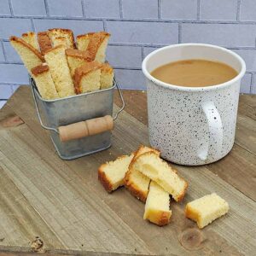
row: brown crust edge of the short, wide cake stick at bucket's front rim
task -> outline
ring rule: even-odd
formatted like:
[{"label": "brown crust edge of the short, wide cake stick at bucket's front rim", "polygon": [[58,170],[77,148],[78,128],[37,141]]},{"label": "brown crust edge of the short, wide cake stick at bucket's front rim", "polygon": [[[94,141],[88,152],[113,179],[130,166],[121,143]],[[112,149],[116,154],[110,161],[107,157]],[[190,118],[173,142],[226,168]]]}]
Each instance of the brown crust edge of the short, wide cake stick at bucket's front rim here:
[{"label": "brown crust edge of the short, wide cake stick at bucket's front rim", "polygon": [[102,68],[102,63],[98,61],[87,62],[87,63],[84,63],[83,66],[76,68],[73,76],[73,81],[74,81],[75,90],[77,94],[82,93],[80,81],[84,77],[84,75],[101,68]]}]

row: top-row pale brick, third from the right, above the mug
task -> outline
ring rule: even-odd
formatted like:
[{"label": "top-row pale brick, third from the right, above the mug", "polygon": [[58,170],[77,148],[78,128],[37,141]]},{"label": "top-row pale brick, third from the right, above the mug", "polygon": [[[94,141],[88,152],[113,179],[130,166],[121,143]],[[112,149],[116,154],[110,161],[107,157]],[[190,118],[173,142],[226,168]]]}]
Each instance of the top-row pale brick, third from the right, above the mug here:
[{"label": "top-row pale brick, third from the right, above the mug", "polygon": [[197,0],[162,0],[162,19],[196,20]]}]

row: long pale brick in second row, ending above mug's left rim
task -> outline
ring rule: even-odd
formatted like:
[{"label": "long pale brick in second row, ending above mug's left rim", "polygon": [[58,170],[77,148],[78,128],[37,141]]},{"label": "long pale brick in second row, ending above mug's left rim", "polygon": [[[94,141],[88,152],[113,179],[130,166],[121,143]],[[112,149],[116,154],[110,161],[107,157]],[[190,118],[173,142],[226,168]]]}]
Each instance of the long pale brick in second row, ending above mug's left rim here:
[{"label": "long pale brick in second row, ending above mug's left rim", "polygon": [[112,43],[177,44],[177,24],[166,22],[107,21]]}]

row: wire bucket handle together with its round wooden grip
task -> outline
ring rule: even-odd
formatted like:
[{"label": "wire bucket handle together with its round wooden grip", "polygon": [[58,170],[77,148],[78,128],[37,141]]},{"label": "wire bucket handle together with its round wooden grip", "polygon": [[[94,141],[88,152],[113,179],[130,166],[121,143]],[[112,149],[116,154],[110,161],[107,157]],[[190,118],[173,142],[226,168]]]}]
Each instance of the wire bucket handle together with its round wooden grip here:
[{"label": "wire bucket handle together with its round wooden grip", "polygon": [[125,100],[123,97],[123,94],[119,88],[119,84],[116,82],[116,79],[113,78],[113,83],[116,84],[117,90],[119,92],[119,97],[122,102],[122,107],[119,109],[117,113],[115,113],[114,117],[110,115],[106,115],[104,117],[96,118],[96,119],[88,119],[85,121],[81,121],[78,123],[74,123],[71,125],[63,125],[58,127],[58,129],[49,127],[43,124],[43,121],[41,119],[41,115],[39,113],[38,109],[38,101],[35,96],[35,84],[33,79],[30,77],[30,82],[32,84],[32,96],[36,105],[36,110],[38,113],[38,119],[40,122],[40,125],[48,131],[55,131],[57,134],[59,134],[59,137],[61,139],[61,142],[67,142],[73,139],[79,139],[82,137],[87,137],[95,134],[102,133],[103,131],[111,131],[113,130],[113,121],[118,118],[119,113],[121,113],[125,108]]}]

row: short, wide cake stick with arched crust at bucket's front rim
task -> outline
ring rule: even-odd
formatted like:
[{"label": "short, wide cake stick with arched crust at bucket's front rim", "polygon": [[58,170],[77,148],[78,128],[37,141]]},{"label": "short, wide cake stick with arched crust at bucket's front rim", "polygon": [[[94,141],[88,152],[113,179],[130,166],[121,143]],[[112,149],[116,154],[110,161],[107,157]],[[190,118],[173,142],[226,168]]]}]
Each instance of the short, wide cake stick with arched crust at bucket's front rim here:
[{"label": "short, wide cake stick with arched crust at bucket's front rim", "polygon": [[101,88],[102,63],[98,61],[87,62],[75,69],[73,76],[76,93],[84,93]]}]

